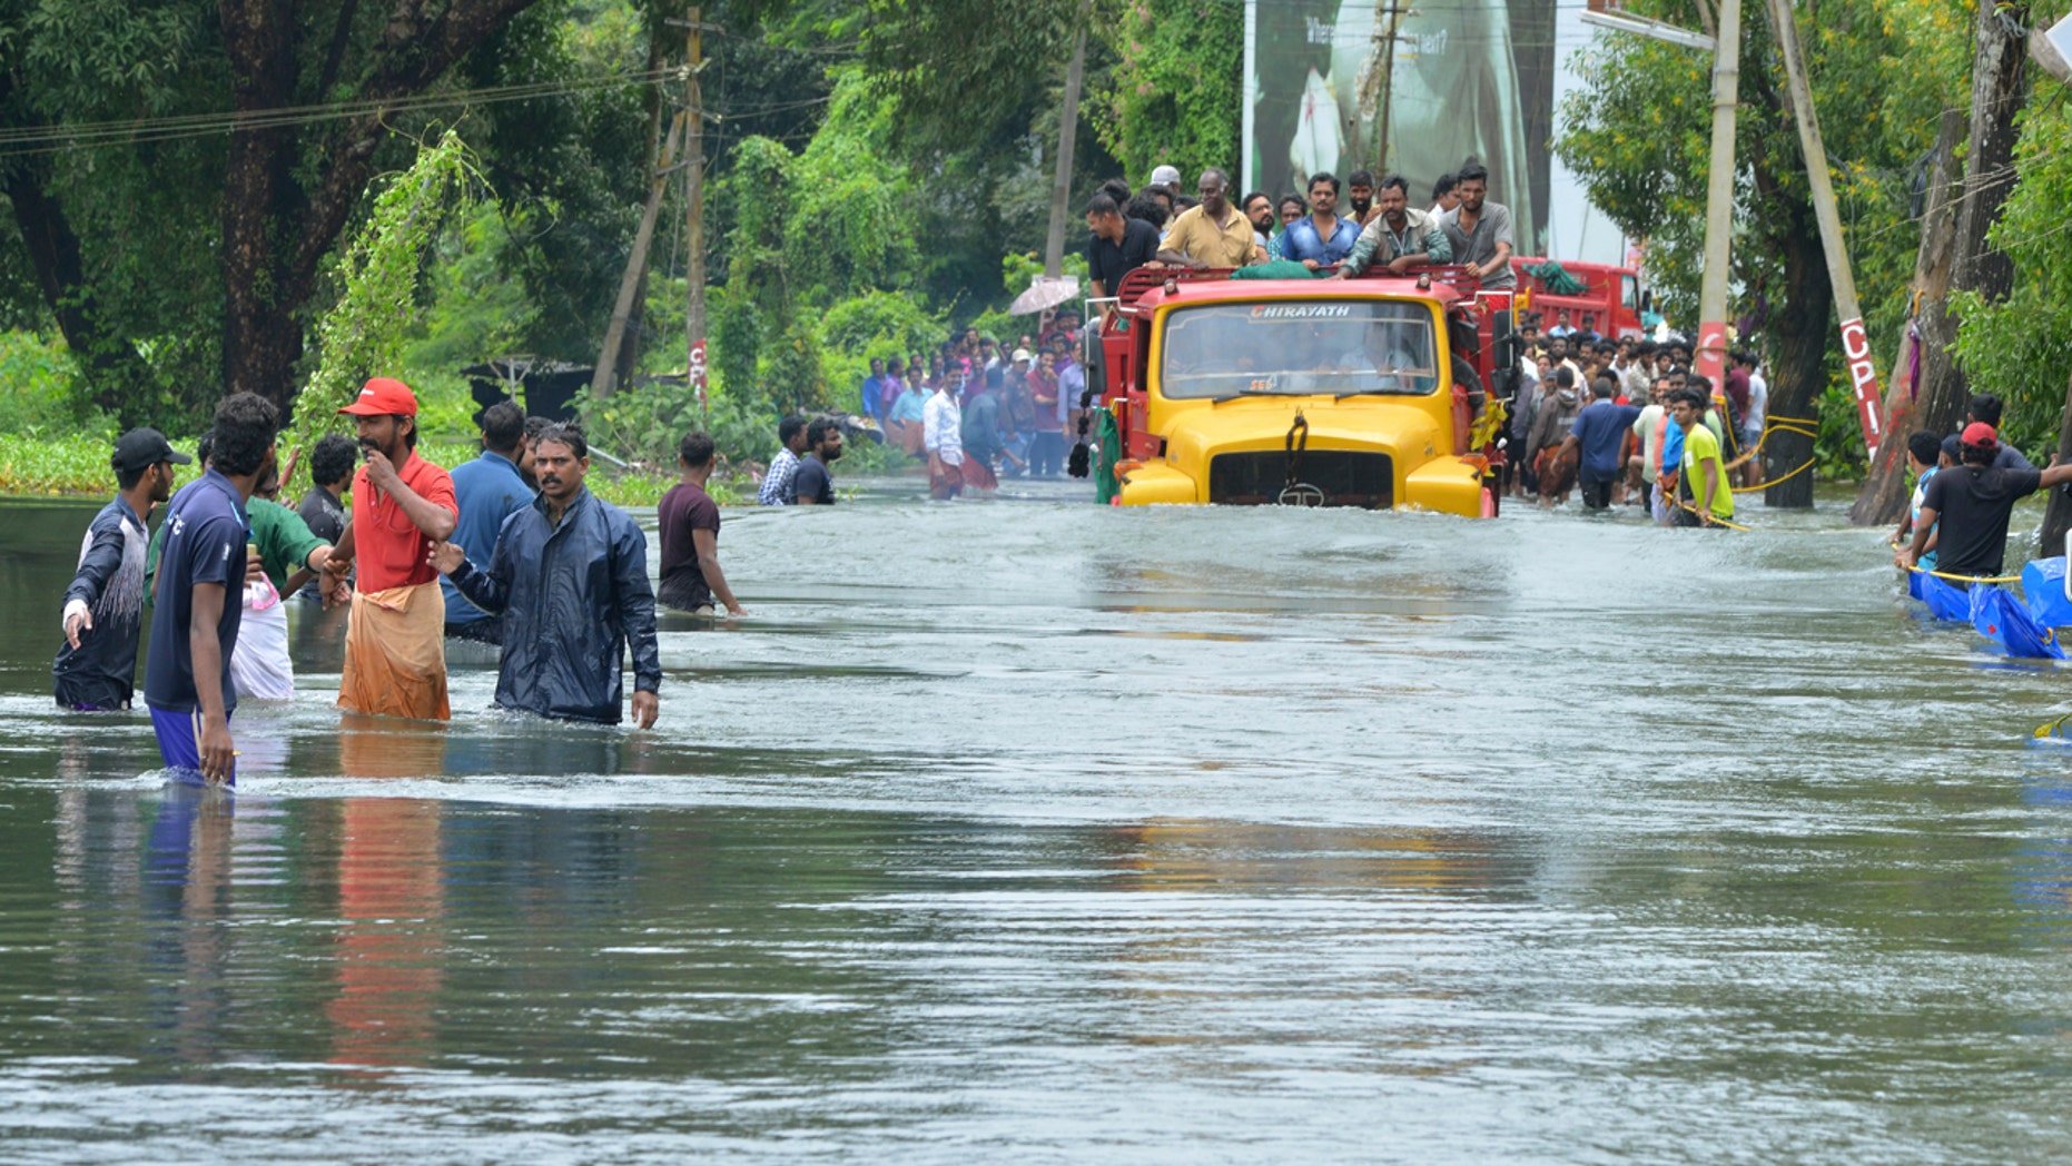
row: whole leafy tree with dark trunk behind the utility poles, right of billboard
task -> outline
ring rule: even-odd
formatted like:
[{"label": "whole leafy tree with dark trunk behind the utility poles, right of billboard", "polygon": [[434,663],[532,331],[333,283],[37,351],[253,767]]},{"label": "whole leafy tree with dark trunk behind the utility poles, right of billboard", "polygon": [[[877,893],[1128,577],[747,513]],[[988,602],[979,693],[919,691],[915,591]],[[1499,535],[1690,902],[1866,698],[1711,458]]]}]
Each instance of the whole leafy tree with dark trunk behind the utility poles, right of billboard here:
[{"label": "whole leafy tree with dark trunk behind the utility poles, right of billboard", "polygon": [[[1687,2],[1635,6],[1699,27]],[[1960,68],[1962,46],[1937,41],[1923,0],[1832,0],[1819,23],[1803,21],[1813,101],[1828,137],[1850,249],[1873,333],[1896,325],[1904,309],[1902,271],[1912,267],[1904,186],[1896,180],[1927,151],[1946,81]],[[1925,31],[1927,29],[1927,31]],[[1691,50],[1639,37],[1600,37],[1585,64],[1585,87],[1566,101],[1569,130],[1556,151],[1595,205],[1635,238],[1647,240],[1649,271],[1670,315],[1693,319],[1697,257],[1703,238],[1709,60]],[[1834,294],[1817,224],[1784,104],[1767,17],[1745,8],[1740,116],[1736,126],[1734,284],[1743,319],[1759,333],[1774,416],[1815,416],[1840,373]],[[1838,162],[1842,159],[1842,162]],[[1813,439],[1776,433],[1763,449],[1772,505],[1811,505]]]}]

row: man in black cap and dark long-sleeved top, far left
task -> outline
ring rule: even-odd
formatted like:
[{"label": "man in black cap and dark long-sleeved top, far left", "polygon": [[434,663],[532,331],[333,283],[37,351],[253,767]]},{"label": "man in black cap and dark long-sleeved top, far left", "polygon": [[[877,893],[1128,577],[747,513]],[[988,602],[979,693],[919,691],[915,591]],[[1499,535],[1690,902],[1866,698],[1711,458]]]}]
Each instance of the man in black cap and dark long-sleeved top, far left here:
[{"label": "man in black cap and dark long-sleeved top, far left", "polygon": [[81,712],[128,708],[143,628],[147,520],[172,497],[174,466],[193,462],[155,429],[131,429],[108,460],[116,499],[93,516],[79,574],[64,588],[64,646],[52,661],[58,704]]}]

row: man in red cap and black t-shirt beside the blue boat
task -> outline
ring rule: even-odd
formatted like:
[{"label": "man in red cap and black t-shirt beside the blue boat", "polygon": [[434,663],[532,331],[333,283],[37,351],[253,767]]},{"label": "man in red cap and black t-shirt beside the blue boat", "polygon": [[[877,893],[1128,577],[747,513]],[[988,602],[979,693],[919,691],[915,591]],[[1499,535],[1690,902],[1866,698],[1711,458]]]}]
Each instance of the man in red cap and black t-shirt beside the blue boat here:
[{"label": "man in red cap and black t-shirt beside the blue boat", "polygon": [[1915,541],[1894,553],[1894,561],[1912,570],[1927,553],[1931,530],[1935,538],[1935,570],[1962,578],[1995,578],[2008,557],[2008,516],[2014,503],[2043,487],[2072,483],[2072,464],[2049,470],[2018,470],[1995,466],[1999,433],[1983,420],[1964,427],[1958,449],[1960,466],[1937,472],[1921,495],[1921,516],[1915,518]]}]

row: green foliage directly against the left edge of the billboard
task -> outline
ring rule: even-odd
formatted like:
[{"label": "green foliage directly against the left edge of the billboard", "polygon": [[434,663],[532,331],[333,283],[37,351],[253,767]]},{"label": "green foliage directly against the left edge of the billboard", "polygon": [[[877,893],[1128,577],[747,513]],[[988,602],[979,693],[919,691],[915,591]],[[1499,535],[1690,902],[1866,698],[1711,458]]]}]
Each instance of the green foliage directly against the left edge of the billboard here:
[{"label": "green foliage directly against the left edge of the billboard", "polygon": [[1138,182],[1175,164],[1237,174],[1243,124],[1245,8],[1225,0],[1129,0],[1102,25],[1119,58],[1088,110],[1094,130]]}]

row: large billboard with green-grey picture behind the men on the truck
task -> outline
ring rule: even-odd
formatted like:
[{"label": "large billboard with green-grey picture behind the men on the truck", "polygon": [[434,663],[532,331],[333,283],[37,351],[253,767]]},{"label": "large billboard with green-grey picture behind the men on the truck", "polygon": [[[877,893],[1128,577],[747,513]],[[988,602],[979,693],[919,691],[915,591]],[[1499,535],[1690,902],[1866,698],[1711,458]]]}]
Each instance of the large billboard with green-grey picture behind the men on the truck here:
[{"label": "large billboard with green-grey picture behind the men on the truck", "polygon": [[1517,253],[1542,255],[1554,19],[1554,0],[1247,0],[1245,188],[1299,195],[1307,174],[1374,170],[1407,178],[1419,207],[1440,174],[1475,159],[1490,199],[1510,207]]}]

